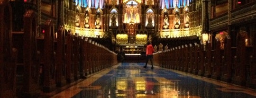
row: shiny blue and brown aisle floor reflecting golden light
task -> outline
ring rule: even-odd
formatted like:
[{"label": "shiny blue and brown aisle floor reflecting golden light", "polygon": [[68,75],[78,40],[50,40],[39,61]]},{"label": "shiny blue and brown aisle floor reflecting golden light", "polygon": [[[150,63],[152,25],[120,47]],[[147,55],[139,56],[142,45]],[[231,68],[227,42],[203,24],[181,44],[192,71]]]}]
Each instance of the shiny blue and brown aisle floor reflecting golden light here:
[{"label": "shiny blue and brown aisle floor reflecting golden light", "polygon": [[145,63],[119,63],[52,98],[256,98],[256,91]]}]

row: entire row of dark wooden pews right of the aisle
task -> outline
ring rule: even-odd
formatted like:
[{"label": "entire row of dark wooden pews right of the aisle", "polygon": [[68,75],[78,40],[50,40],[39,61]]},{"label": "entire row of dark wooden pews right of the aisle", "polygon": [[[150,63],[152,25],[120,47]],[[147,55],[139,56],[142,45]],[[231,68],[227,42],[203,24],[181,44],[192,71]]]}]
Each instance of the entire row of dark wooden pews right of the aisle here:
[{"label": "entire row of dark wooden pews right of the aisle", "polygon": [[220,49],[218,38],[214,43],[175,46],[154,53],[154,64],[256,89],[256,46],[247,46],[245,40],[246,32],[240,31],[236,47],[231,46],[229,36],[225,37],[224,49]]}]

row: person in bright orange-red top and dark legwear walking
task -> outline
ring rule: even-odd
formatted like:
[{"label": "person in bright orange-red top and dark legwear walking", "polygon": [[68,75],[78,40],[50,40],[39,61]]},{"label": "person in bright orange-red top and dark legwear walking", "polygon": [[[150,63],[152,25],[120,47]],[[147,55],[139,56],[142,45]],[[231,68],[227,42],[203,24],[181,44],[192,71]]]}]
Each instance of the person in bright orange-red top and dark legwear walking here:
[{"label": "person in bright orange-red top and dark legwear walking", "polygon": [[144,68],[146,68],[146,65],[147,65],[147,62],[148,60],[150,60],[152,66],[151,66],[151,69],[153,69],[153,52],[154,52],[154,48],[153,48],[153,45],[150,43],[150,42],[147,42],[147,46],[146,46],[146,64],[145,66],[143,66]]}]

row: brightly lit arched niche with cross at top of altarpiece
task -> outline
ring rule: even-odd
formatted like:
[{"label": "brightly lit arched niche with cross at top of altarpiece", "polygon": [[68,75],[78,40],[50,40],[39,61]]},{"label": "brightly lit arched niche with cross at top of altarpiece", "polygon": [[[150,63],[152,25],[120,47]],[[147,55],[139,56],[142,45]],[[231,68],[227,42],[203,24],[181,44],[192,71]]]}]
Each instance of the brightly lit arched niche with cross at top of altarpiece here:
[{"label": "brightly lit arched niche with cross at top of altarpiece", "polygon": [[128,0],[123,5],[123,23],[141,22],[141,5],[137,0]]}]

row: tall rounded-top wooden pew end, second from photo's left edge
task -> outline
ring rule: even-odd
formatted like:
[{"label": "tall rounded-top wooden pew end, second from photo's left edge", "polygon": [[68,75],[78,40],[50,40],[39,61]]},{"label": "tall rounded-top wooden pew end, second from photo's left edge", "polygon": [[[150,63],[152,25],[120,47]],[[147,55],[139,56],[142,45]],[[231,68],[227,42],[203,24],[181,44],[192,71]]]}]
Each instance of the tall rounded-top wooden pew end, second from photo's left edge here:
[{"label": "tall rounded-top wooden pew end, second from photo's left edge", "polygon": [[35,98],[39,95],[39,52],[37,52],[37,14],[27,10],[24,14],[23,86],[20,96]]}]

